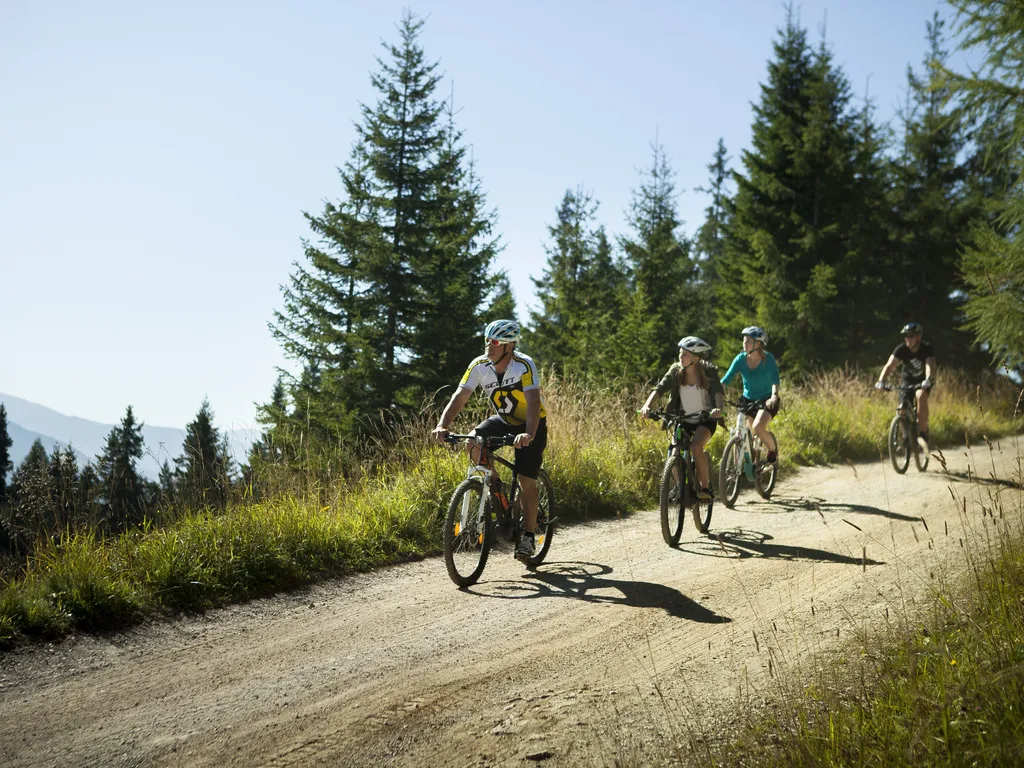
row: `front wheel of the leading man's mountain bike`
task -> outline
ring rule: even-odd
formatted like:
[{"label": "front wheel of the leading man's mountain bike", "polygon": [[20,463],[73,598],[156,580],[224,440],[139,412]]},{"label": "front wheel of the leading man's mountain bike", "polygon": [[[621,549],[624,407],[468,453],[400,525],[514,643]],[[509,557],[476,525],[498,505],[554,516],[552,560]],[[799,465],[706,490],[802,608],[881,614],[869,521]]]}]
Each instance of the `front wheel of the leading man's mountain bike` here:
[{"label": "front wheel of the leading man's mountain bike", "polygon": [[444,516],[444,566],[460,587],[476,584],[490,553],[494,520],[490,499],[485,500],[480,513],[482,495],[483,482],[479,477],[463,480],[452,494]]}]

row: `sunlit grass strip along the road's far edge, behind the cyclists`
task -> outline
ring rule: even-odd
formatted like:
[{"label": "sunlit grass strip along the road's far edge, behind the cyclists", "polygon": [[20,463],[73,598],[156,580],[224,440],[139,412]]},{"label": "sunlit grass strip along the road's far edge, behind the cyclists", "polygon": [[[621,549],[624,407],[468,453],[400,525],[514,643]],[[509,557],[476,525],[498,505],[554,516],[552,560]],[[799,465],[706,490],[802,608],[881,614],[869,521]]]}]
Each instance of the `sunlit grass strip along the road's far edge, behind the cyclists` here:
[{"label": "sunlit grass strip along the road's far edge, behind the cyclists", "polygon": [[[894,401],[864,377],[821,376],[787,389],[774,431],[783,467],[878,458]],[[947,375],[933,401],[933,443],[963,444],[1018,431],[1016,393]],[[562,518],[626,514],[654,503],[666,433],[642,424],[640,391],[595,394],[567,381],[545,389],[551,440],[545,464]],[[100,541],[67,535],[0,583],[0,643],[115,629],[150,615],[203,610],[317,579],[434,554],[438,516],[465,475],[461,454],[431,445],[429,422],[412,425],[385,470],[329,489],[190,512],[164,527]],[[727,432],[711,445],[717,460]]]}]

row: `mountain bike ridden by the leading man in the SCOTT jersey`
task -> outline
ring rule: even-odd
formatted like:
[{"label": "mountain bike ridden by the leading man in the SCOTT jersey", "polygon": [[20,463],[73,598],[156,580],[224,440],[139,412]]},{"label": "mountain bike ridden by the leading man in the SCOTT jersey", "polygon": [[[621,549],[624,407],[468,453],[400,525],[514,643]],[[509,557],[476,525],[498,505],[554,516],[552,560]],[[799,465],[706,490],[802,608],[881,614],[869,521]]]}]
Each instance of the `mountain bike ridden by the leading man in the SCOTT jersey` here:
[{"label": "mountain bike ridden by the leading man in the SCOTT jersey", "polygon": [[[512,462],[494,453],[497,449],[511,445],[515,436],[446,434],[444,441],[473,442],[480,449],[478,463],[469,468],[466,479],[452,494],[444,516],[444,565],[453,582],[460,587],[469,587],[476,584],[483,572],[498,534],[513,547],[519,544],[522,536],[524,520],[518,494],[519,478]],[[502,479],[498,473],[499,466],[512,470],[510,482]],[[534,556],[526,560],[529,568],[544,562],[554,532],[555,494],[551,489],[551,478],[543,469],[537,476],[537,492],[540,503],[534,534],[536,550]]]}]

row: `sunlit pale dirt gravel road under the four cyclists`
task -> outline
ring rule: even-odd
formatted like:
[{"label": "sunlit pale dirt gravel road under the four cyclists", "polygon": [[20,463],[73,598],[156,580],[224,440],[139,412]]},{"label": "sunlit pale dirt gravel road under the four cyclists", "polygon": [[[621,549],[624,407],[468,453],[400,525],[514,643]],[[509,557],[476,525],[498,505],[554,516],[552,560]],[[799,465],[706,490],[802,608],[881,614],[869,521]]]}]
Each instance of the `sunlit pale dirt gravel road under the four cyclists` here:
[{"label": "sunlit pale dirt gravel road under the four cyclists", "polygon": [[1020,510],[1018,451],[783,473],[678,550],[641,512],[560,529],[536,572],[496,553],[465,592],[432,558],[8,652],[0,765],[655,763],[770,697],[770,663],[925,602],[993,524],[962,497]]}]

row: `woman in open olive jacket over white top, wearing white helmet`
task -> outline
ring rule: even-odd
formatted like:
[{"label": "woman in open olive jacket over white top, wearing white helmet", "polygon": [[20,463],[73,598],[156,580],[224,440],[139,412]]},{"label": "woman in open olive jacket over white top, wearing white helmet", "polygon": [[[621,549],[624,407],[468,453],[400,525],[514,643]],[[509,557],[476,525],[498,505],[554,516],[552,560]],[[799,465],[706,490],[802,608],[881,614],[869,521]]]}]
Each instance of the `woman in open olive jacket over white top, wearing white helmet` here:
[{"label": "woman in open olive jacket over white top, wearing white helmet", "polygon": [[694,414],[708,411],[711,418],[699,422],[690,442],[690,452],[697,470],[697,499],[711,501],[711,478],[708,476],[708,461],[705,446],[718,428],[716,420],[722,418],[725,392],[718,379],[718,369],[703,357],[711,352],[711,345],[696,336],[686,336],[679,340],[679,362],[673,362],[662,381],[651,390],[640,413],[647,416],[650,407],[660,395],[669,392],[668,415]]}]

